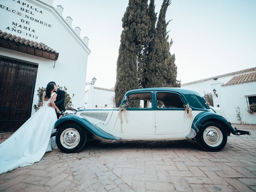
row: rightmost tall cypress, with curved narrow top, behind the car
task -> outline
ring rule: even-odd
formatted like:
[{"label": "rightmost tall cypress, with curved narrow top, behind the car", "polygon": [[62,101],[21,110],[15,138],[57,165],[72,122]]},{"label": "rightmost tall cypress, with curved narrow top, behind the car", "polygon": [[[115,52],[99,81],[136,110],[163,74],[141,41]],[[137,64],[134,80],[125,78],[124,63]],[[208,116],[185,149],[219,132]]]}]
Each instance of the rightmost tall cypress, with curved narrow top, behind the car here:
[{"label": "rightmost tall cypress, with curved narrow top, behind the car", "polygon": [[148,87],[174,87],[179,86],[176,81],[177,67],[175,65],[175,55],[170,54],[170,46],[172,40],[169,42],[168,33],[166,32],[166,11],[170,5],[170,0],[164,0],[153,40],[150,42],[149,53],[147,57],[148,69],[146,72],[145,88]]}]

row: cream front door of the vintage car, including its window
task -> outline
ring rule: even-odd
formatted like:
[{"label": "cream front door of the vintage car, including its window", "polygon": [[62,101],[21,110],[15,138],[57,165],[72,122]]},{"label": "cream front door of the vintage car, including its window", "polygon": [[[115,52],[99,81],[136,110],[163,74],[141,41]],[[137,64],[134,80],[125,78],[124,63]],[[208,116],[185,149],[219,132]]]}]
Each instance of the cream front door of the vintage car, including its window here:
[{"label": "cream front door of the vintage car, including its window", "polygon": [[119,112],[115,124],[115,130],[121,127],[123,139],[156,134],[152,96],[153,92],[141,91],[127,95],[126,110]]}]

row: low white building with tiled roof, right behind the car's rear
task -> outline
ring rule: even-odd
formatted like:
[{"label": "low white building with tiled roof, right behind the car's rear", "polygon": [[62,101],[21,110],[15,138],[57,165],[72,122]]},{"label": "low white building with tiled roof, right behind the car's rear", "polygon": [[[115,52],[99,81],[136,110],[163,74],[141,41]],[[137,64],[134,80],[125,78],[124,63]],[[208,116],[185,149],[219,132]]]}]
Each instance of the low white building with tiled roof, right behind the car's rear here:
[{"label": "low white building with tiled roof, right behind the car's rear", "polygon": [[214,107],[224,111],[232,123],[256,124],[256,112],[250,113],[250,104],[256,102],[256,67],[189,82],[181,87],[197,90],[202,95],[212,93]]}]

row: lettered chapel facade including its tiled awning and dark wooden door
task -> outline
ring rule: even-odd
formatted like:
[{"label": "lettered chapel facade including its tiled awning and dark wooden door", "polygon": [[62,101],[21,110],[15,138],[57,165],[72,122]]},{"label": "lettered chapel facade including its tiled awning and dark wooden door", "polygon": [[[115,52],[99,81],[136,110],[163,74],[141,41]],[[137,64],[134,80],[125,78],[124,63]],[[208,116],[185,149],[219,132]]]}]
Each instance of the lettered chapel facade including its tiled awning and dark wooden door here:
[{"label": "lettered chapel facade including its tiled awning and dark wooden door", "polygon": [[74,108],[84,105],[88,38],[62,12],[52,0],[0,1],[0,132],[17,130],[35,112],[37,90],[50,81],[74,94]]}]

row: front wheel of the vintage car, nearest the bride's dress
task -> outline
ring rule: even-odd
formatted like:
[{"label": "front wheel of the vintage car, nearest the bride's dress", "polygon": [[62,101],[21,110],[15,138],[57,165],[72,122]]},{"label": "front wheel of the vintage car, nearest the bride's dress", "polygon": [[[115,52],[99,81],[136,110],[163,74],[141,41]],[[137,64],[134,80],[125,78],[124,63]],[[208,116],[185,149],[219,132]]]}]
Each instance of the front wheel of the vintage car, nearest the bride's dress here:
[{"label": "front wheel of the vintage car, nearest the bride's dress", "polygon": [[56,144],[65,153],[76,153],[86,144],[86,131],[76,124],[65,124],[56,133]]}]

